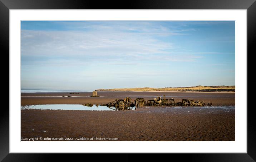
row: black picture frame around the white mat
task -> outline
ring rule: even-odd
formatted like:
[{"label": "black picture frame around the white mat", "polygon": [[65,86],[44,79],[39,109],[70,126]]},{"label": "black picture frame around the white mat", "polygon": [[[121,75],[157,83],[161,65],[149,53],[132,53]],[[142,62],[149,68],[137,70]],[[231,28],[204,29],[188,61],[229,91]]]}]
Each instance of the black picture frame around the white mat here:
[{"label": "black picture frame around the white mat", "polygon": [[[0,45],[2,55],[9,56],[9,10],[10,9],[247,9],[247,53],[256,53],[256,2],[255,0],[0,0]],[[245,54],[247,55],[247,54]],[[247,55],[248,56],[248,55]],[[9,57],[8,57],[9,59]],[[9,78],[9,77],[8,77]],[[9,81],[9,80],[8,80]],[[7,81],[6,81],[7,82]],[[10,86],[10,85],[9,85]],[[10,88],[10,87],[9,87]],[[238,95],[239,96],[239,95]],[[247,108],[247,107],[245,107]],[[1,107],[0,161],[50,161],[55,158],[74,161],[83,154],[14,154],[9,153],[9,106]],[[253,162],[256,161],[256,120],[253,107],[247,108],[247,153],[196,153],[164,154],[163,158],[189,161]],[[171,147],[171,146],[170,146]],[[88,158],[88,155],[86,155]],[[151,154],[143,156],[152,159]],[[96,160],[132,161],[131,154],[95,156]],[[137,158],[140,160],[140,157]]]}]

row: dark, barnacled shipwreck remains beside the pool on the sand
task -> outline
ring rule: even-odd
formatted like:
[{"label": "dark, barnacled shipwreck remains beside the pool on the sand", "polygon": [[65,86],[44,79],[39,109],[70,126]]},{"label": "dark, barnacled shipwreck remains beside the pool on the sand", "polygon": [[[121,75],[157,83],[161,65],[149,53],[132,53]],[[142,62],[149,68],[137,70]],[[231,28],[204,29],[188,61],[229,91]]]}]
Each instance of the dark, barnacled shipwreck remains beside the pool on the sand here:
[{"label": "dark, barnacled shipwreck remains beside the pool on the sand", "polygon": [[109,108],[115,108],[116,110],[132,110],[132,107],[142,107],[142,106],[211,106],[212,103],[204,103],[203,101],[193,101],[193,100],[187,100],[182,99],[182,102],[175,102],[173,98],[166,98],[164,95],[163,100],[161,97],[157,96],[157,98],[154,98],[154,100],[147,100],[145,101],[144,98],[136,98],[134,100],[134,103],[132,102],[132,99],[130,97],[125,97],[123,100],[117,100],[115,99],[112,102],[109,102],[107,104],[103,104],[100,106],[108,106]]}]

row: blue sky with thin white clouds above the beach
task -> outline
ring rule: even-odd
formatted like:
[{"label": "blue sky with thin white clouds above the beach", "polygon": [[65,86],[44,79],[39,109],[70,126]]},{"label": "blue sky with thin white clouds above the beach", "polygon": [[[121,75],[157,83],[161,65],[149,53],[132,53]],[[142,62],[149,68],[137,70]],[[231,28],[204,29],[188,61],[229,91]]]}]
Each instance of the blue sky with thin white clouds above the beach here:
[{"label": "blue sky with thin white clouds above the beach", "polygon": [[21,88],[235,85],[235,21],[21,21]]}]

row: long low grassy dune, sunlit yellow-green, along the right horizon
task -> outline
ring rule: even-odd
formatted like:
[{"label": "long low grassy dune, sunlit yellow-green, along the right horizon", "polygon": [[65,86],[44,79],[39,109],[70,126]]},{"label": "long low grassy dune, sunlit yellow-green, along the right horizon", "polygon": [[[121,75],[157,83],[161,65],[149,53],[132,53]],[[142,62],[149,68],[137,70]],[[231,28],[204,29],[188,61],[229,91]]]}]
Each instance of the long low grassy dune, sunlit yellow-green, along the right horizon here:
[{"label": "long low grassy dune, sunlit yellow-green, along the right horizon", "polygon": [[114,88],[97,91],[199,91],[199,92],[235,92],[235,86],[195,86],[195,87],[165,87],[165,88]]}]

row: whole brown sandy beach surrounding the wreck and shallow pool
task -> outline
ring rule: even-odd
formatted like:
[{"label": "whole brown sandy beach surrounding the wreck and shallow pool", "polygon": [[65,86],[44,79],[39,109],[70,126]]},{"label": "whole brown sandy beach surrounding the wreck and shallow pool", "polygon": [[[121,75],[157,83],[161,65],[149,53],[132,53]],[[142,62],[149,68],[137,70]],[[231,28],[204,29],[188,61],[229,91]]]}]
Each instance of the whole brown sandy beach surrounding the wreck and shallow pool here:
[{"label": "whole brown sandy beach surrounding the wreck and shallow pool", "polygon": [[[235,93],[232,92],[82,92],[21,93],[21,106],[105,104],[124,97],[146,100],[166,95],[212,102],[212,107],[139,107],[130,111],[21,109],[21,141],[235,141]],[[224,107],[223,107],[224,106]],[[62,137],[64,139],[62,139]],[[65,138],[67,138],[65,140]],[[88,139],[87,139],[88,138]],[[61,140],[58,140],[61,139]],[[85,140],[87,139],[87,140]],[[107,139],[107,140],[106,140]]]}]

